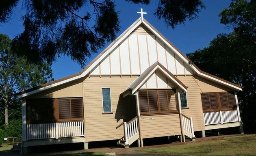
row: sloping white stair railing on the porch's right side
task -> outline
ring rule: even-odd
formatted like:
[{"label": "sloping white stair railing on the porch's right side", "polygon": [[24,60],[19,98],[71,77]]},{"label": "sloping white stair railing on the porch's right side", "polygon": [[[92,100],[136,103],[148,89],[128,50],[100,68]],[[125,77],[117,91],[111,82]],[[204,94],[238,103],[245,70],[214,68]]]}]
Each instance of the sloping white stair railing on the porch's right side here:
[{"label": "sloping white stair railing on the porch's right side", "polygon": [[181,116],[182,116],[182,128],[183,128],[184,135],[189,137],[191,140],[194,140],[195,134],[194,134],[192,117],[187,117],[183,114]]}]

